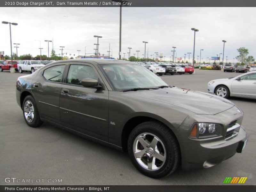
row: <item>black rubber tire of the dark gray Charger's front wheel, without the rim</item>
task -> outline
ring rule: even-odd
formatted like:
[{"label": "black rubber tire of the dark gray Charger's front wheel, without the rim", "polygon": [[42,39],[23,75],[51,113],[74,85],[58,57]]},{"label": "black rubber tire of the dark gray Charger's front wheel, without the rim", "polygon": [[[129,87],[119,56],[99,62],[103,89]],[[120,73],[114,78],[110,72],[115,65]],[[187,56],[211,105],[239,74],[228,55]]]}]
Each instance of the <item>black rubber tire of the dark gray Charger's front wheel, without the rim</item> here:
[{"label": "black rubber tire of the dark gray Charger's front wheel, without the rim", "polygon": [[[155,126],[154,126],[155,125]],[[173,135],[172,138],[169,138],[166,136],[164,132],[162,132],[160,129],[158,129],[159,124],[155,122],[146,122],[139,124],[134,128],[134,130],[131,132],[129,138],[128,138],[128,154],[130,156],[130,159],[132,161],[132,164],[136,167],[137,170],[139,170],[141,173],[148,177],[152,178],[161,178],[164,176],[169,175],[170,173],[174,172],[177,168],[177,162],[179,161],[179,155],[178,152],[178,145],[176,140],[174,139]],[[168,131],[167,128],[165,131]],[[149,171],[137,162],[134,153],[133,153],[133,142],[137,138],[138,135],[141,133],[152,133],[156,135],[164,144],[165,150],[166,150],[166,160],[164,165],[156,171]],[[175,143],[173,145],[173,142]],[[175,152],[176,150],[176,152]],[[176,155],[175,155],[176,154]],[[172,159],[171,157],[177,158],[177,159]],[[176,161],[176,165],[175,165]],[[174,167],[175,166],[175,167]]]}]

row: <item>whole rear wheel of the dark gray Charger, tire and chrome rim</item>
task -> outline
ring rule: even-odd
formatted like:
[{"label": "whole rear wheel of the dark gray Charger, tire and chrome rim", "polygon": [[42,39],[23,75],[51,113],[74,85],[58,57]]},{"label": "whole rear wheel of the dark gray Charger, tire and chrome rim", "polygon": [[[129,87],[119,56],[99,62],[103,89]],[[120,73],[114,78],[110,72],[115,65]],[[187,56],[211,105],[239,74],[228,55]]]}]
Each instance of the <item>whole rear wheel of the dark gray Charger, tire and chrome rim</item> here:
[{"label": "whole rear wheel of the dark gray Charger, tire and chrome rim", "polygon": [[36,101],[31,95],[25,97],[22,105],[23,116],[30,127],[38,127],[43,122],[40,120],[40,116],[37,110]]}]

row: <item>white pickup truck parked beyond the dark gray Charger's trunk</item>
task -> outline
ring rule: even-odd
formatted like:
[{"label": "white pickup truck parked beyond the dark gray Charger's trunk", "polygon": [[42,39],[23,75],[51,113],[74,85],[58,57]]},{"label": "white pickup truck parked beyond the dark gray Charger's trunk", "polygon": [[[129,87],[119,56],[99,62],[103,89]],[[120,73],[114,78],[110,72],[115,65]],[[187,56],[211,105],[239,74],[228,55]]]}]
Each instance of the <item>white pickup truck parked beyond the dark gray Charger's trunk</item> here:
[{"label": "white pickup truck parked beyond the dark gray Charger's trunk", "polygon": [[44,67],[44,65],[40,61],[35,60],[23,60],[18,63],[18,70],[20,73],[23,73],[23,71],[33,73],[41,67]]}]

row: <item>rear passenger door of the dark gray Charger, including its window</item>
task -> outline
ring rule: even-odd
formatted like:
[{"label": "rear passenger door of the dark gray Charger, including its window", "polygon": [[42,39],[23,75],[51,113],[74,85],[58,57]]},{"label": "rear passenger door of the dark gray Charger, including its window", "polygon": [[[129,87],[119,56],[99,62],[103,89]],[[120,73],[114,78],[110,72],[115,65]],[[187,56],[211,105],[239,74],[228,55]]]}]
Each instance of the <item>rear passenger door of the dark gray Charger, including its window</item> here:
[{"label": "rear passenger door of the dark gray Charger, including its window", "polygon": [[60,90],[65,63],[49,66],[33,79],[32,93],[41,118],[60,124]]}]

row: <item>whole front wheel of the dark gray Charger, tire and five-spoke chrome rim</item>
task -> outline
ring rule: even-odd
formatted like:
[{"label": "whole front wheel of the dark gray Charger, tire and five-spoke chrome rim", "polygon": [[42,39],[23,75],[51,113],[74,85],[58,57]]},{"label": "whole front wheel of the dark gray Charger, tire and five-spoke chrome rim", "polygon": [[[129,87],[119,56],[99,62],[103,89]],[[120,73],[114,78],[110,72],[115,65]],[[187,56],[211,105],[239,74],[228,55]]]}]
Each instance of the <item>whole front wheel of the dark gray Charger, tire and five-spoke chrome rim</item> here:
[{"label": "whole front wheel of the dark gray Charger, tire and five-spoke chrome rim", "polygon": [[[148,177],[165,177],[180,164],[180,149],[175,136],[169,128],[155,121],[137,125],[129,135],[127,147],[132,164]],[[150,166],[148,160],[154,163]]]}]

